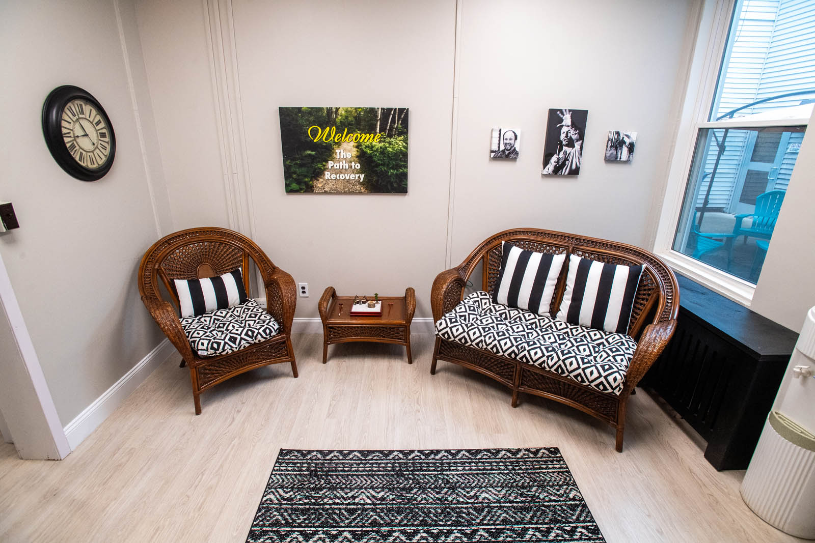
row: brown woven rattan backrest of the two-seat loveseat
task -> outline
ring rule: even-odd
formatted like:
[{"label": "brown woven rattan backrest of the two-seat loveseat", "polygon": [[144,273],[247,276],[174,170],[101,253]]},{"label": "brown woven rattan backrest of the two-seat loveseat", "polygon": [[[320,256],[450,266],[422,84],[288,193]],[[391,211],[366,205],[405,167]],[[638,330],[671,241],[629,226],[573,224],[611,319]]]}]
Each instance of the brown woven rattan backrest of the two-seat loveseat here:
[{"label": "brown woven rattan backrest of the two-seat loveseat", "polygon": [[[637,337],[648,322],[663,322],[676,318],[678,287],[671,269],[650,252],[624,243],[606,239],[588,238],[552,230],[505,230],[485,240],[459,266],[460,273],[469,278],[478,261],[483,263],[482,289],[492,292],[498,281],[501,264],[501,243],[509,242],[522,249],[552,254],[569,253],[594,261],[623,265],[644,265],[644,271],[634,298],[628,334]],[[566,265],[557,282],[552,313],[560,308],[566,290]]]}]

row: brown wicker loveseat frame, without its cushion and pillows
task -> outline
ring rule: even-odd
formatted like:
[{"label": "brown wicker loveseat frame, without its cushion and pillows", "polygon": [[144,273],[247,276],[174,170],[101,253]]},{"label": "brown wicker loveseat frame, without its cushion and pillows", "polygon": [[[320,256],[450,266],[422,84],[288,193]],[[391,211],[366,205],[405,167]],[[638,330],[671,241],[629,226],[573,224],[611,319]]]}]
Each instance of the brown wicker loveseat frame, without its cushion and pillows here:
[{"label": "brown wicker loveseat frame, without its cushion and pillows", "polygon": [[[498,281],[502,242],[512,243],[527,251],[555,255],[566,253],[566,264],[569,262],[569,255],[575,255],[615,265],[643,266],[634,295],[627,334],[617,335],[628,341],[633,355],[630,362],[626,361],[627,368],[623,368],[622,380],[615,391],[602,392],[587,383],[579,383],[568,375],[544,369],[542,364],[530,363],[528,356],[526,361],[522,361],[521,357],[517,356],[500,356],[494,352],[495,349],[476,348],[466,341],[442,337],[443,334],[439,333],[441,319],[454,315],[456,313],[454,309],[460,310],[465,304],[492,304],[491,296],[487,293],[492,293]],[[465,286],[479,264],[482,264],[484,292],[476,292],[465,300]],[[566,290],[566,269],[567,265],[563,265],[557,278],[551,305],[552,316],[557,313]],[[657,256],[641,248],[551,230],[517,229],[505,230],[492,236],[476,247],[460,265],[438,274],[431,291],[431,305],[434,321],[437,323],[431,374],[435,374],[438,360],[449,361],[504,383],[512,390],[513,407],[518,405],[518,392],[528,392],[571,405],[615,427],[616,449],[622,452],[628,396],[659,353],[662,353],[676,328],[679,291],[671,269]],[[509,309],[509,311],[519,310]],[[531,317],[527,319],[529,320]],[[518,325],[517,321],[512,322]],[[563,326],[571,326],[576,330],[576,326],[573,325],[563,324]],[[589,335],[592,333],[588,332]],[[598,335],[603,333],[599,332]],[[466,336],[467,332],[462,331],[461,335]],[[511,340],[512,336],[509,337]]]}]

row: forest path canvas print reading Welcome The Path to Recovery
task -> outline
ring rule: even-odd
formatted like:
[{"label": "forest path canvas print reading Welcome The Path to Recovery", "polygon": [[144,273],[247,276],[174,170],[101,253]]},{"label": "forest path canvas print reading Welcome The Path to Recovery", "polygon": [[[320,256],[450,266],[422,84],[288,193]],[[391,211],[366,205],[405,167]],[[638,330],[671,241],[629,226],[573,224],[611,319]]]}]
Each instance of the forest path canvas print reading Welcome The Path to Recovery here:
[{"label": "forest path canvas print reading Welcome The Path to Recovery", "polygon": [[287,193],[407,193],[407,107],[280,107]]}]

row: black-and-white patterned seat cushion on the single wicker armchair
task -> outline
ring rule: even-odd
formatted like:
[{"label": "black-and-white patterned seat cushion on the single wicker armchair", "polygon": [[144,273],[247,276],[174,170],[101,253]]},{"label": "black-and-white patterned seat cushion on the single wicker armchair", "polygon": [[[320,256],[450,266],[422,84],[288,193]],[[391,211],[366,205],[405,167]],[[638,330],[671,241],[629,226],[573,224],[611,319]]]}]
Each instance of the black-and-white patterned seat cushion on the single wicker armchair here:
[{"label": "black-and-white patterned seat cushion on the single wicker armchair", "polygon": [[275,317],[254,300],[198,317],[183,317],[181,327],[190,340],[192,351],[199,357],[234,353],[280,331]]}]

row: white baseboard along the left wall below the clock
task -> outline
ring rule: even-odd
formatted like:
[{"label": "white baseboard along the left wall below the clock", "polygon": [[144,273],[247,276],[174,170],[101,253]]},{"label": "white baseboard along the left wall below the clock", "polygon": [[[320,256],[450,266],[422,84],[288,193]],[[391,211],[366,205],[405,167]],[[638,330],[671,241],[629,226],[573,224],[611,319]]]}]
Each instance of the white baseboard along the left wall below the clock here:
[{"label": "white baseboard along the left wall below the clock", "polygon": [[77,446],[85,440],[90,433],[104,422],[126,399],[130,396],[139,385],[152,374],[158,366],[161,366],[167,358],[173,353],[176,353],[175,347],[170,343],[169,339],[165,339],[156,346],[146,357],[143,357],[138,364],[130,368],[126,374],[116,383],[113,383],[111,388],[108,388],[102,396],[88,405],[85,410],[77,415],[66,427],[64,427],[65,436],[68,438],[68,444],[71,450],[77,449]]}]

